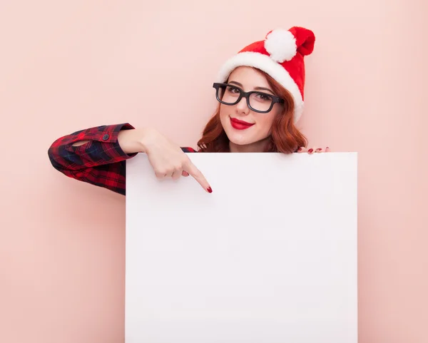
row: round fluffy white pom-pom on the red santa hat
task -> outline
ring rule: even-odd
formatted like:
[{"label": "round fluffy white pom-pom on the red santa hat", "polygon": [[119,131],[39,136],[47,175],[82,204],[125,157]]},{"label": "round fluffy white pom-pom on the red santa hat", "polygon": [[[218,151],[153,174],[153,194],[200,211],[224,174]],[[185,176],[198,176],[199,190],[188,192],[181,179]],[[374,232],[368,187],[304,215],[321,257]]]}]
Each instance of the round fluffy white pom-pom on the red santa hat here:
[{"label": "round fluffy white pom-pom on the red santa hat", "polygon": [[295,36],[285,29],[274,30],[265,39],[265,49],[278,63],[290,61],[297,53]]}]

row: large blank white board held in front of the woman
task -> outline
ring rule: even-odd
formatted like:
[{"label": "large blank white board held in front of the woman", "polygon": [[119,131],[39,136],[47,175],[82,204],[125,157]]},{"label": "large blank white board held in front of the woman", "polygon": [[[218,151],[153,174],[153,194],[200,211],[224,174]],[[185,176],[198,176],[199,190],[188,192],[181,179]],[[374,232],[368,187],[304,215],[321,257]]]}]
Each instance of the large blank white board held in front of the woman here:
[{"label": "large blank white board held in front of the woman", "polygon": [[357,154],[126,169],[126,343],[357,343]]}]

